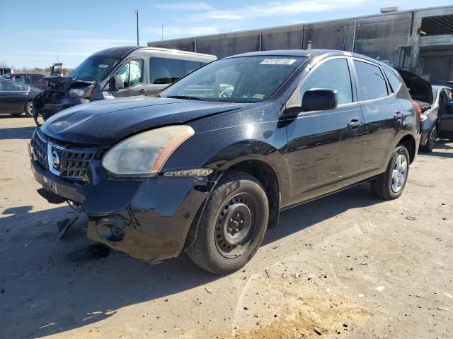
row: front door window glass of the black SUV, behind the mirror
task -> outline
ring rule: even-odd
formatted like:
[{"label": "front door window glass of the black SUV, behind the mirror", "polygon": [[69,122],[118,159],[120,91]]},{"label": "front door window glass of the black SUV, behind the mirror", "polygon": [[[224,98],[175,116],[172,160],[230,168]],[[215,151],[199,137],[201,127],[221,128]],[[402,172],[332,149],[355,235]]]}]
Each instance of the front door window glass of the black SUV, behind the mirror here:
[{"label": "front door window glass of the black SUV, behind the mirror", "polygon": [[300,97],[313,88],[328,88],[337,90],[338,105],[352,102],[352,86],[346,59],[333,59],[324,62],[314,69],[300,86]]}]

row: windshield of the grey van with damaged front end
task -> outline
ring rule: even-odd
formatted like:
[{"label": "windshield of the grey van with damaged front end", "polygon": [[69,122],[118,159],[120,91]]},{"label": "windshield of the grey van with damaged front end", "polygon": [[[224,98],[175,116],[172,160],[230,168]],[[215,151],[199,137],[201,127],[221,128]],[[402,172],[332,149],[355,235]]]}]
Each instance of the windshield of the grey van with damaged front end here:
[{"label": "windshield of the grey van with damaged front end", "polygon": [[89,57],[79,67],[69,74],[72,78],[85,81],[101,81],[108,76],[111,69],[120,62],[120,59],[108,57]]}]

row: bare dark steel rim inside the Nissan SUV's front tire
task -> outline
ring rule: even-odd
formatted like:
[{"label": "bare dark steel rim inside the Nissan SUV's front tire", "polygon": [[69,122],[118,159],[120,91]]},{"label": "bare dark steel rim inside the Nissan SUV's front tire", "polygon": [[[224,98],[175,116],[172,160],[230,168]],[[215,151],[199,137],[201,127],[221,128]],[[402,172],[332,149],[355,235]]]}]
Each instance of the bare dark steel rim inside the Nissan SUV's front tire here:
[{"label": "bare dark steel rim inside the Nissan SUV's front tire", "polygon": [[236,258],[246,251],[258,230],[257,212],[258,201],[248,193],[236,194],[224,204],[217,215],[214,232],[215,244],[222,256]]}]

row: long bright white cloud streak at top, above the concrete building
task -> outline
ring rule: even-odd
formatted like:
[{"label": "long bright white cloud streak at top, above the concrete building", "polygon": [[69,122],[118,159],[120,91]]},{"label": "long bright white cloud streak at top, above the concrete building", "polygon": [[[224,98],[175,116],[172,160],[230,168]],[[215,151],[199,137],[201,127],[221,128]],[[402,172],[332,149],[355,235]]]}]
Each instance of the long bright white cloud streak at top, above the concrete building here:
[{"label": "long bright white cloud streak at top, above the concrete building", "polygon": [[243,20],[264,18],[269,16],[293,16],[301,13],[331,11],[365,4],[366,0],[302,0],[302,1],[272,1],[260,6],[246,6],[241,9],[225,11],[207,11],[199,16],[209,19]]}]

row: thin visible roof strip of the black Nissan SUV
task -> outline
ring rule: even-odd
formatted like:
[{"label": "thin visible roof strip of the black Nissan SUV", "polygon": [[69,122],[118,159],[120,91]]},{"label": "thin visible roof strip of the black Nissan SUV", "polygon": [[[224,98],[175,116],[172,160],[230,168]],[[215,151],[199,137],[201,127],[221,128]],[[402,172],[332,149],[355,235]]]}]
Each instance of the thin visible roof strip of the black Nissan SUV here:
[{"label": "thin visible roof strip of the black Nissan SUV", "polygon": [[234,57],[253,57],[253,56],[269,56],[269,57],[335,57],[338,55],[345,55],[348,57],[356,57],[364,59],[367,61],[374,62],[381,66],[391,68],[391,66],[382,63],[377,59],[367,57],[362,54],[345,52],[336,49],[275,49],[270,51],[260,51],[260,52],[248,52],[243,54],[231,55],[230,57],[225,57],[224,59],[234,58]]}]

